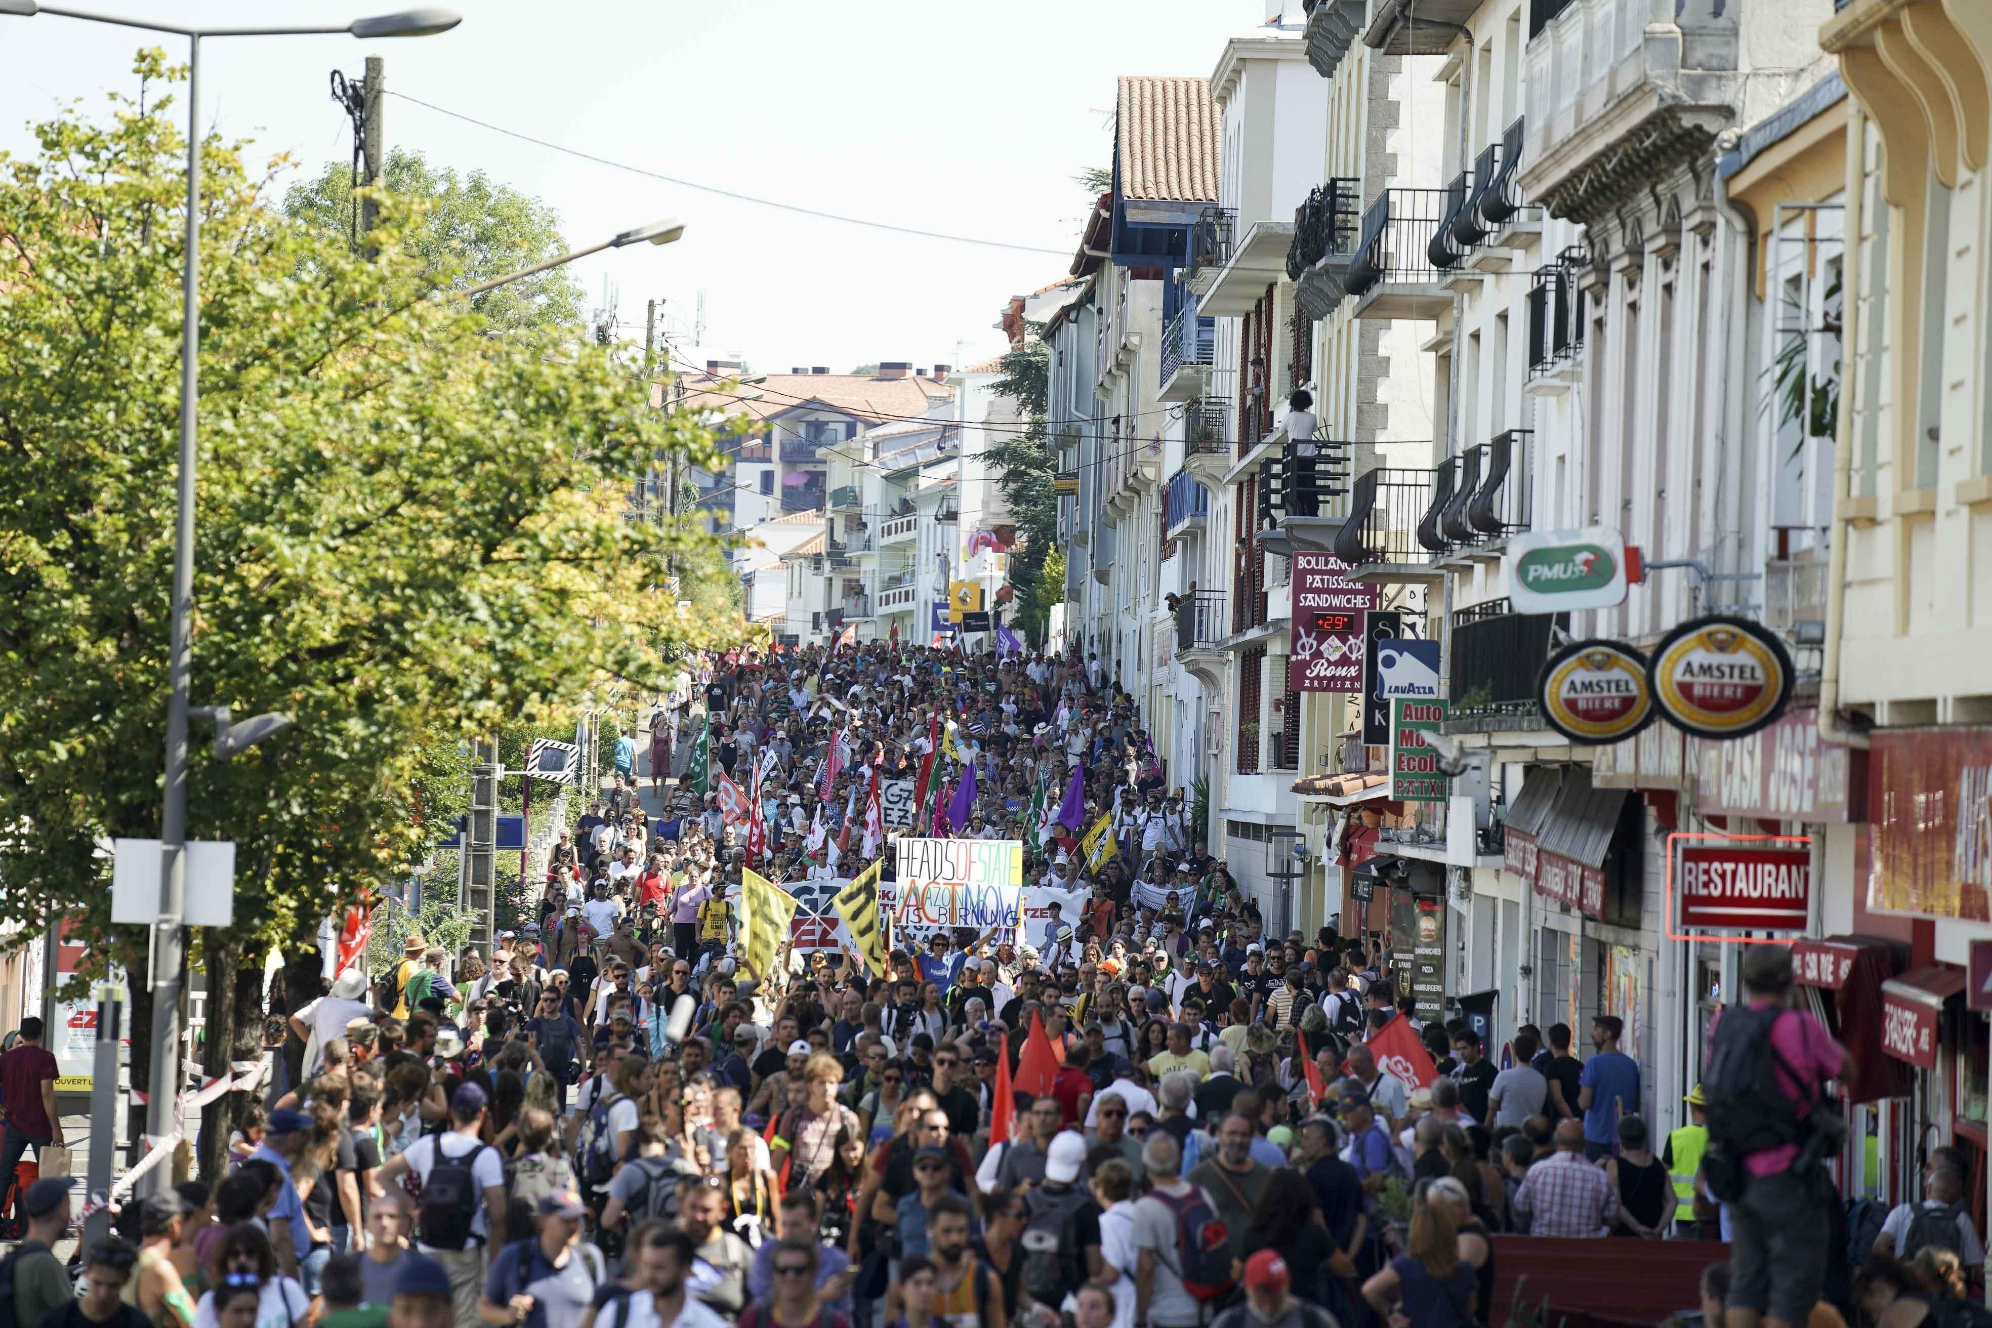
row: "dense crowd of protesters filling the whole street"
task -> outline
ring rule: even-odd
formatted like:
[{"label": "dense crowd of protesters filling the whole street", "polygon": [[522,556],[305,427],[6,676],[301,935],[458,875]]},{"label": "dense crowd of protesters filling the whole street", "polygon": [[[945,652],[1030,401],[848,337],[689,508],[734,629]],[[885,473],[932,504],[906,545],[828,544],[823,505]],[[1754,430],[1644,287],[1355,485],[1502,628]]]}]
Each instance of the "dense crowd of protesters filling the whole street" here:
[{"label": "dense crowd of protesters filling the whole street", "polygon": [[[1725,1077],[1653,1139],[1618,1019],[1582,1059],[1562,1023],[1496,1051],[1418,1023],[1374,938],[1267,934],[1094,657],[876,643],[685,681],[647,717],[649,788],[631,727],[520,932],[410,936],[315,997],[289,976],[235,1169],[129,1209],[80,1302],[46,1256],[68,1187],[32,1189],[18,1322],[118,1322],[116,1280],[157,1328],[1466,1328],[1516,1232],[1733,1240],[1701,1286],[1729,1328],[1853,1312],[1813,1145],[1843,1053],[1787,1009],[1783,948],[1717,1023]],[[755,972],[745,868],[892,880],[874,776],[918,782],[910,832],[1024,842],[1078,916]],[[1376,1053],[1406,1027],[1416,1087]],[[1982,1264],[1960,1185],[1936,1167],[1876,1234],[1859,1304],[1886,1328]]]}]

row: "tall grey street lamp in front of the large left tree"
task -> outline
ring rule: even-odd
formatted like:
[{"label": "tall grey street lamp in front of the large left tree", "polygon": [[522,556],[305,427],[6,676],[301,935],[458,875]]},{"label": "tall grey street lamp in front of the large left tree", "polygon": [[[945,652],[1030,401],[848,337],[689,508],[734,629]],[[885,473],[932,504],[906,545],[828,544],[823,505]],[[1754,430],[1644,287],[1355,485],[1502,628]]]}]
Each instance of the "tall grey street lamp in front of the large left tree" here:
[{"label": "tall grey street lamp in front of the large left tree", "polygon": [[[165,854],[159,872],[159,920],[151,930],[151,1099],[145,1107],[145,1133],[151,1147],[165,1147],[173,1131],[179,1103],[179,990],[185,952],[181,918],[187,904],[187,723],[191,719],[189,689],[193,677],[193,482],[195,482],[195,420],[199,406],[201,342],[201,38],[261,38],[311,36],[345,32],[357,38],[414,38],[448,32],[462,18],[450,10],[420,8],[400,14],[357,18],[343,28],[183,28],[145,18],[118,18],[38,4],[38,0],[0,0],[0,14],[34,18],[56,14],[92,24],[171,32],[187,38],[187,255],[181,273],[179,331],[179,510],[173,538],[173,645],[169,661],[171,693],[165,709],[165,800],[159,814],[159,844]],[[241,725],[229,725],[219,707],[205,715],[217,721],[215,755],[223,761],[275,737],[289,727],[283,715],[257,715]],[[153,1167],[145,1181],[147,1193],[171,1185],[165,1167]]]}]

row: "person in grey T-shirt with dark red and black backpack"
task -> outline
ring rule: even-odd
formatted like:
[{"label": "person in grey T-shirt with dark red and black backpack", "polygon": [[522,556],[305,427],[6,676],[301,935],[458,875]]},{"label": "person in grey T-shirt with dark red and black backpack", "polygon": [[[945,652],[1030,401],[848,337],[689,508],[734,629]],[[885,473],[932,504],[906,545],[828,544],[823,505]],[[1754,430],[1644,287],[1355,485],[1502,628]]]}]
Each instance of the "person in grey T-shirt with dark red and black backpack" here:
[{"label": "person in grey T-shirt with dark red and black backpack", "polygon": [[1217,1205],[1183,1181],[1183,1153],[1155,1131],[1141,1147],[1151,1189],[1133,1207],[1135,1322],[1197,1328],[1209,1304],[1231,1294],[1231,1232]]}]

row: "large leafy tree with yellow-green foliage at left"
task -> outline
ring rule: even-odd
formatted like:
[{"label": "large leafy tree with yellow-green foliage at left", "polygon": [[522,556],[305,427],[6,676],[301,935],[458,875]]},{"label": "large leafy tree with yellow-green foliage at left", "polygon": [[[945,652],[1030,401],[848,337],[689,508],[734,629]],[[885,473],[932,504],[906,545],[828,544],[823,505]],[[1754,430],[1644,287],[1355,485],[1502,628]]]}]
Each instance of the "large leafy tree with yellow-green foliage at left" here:
[{"label": "large leafy tree with yellow-green foliage at left", "polygon": [[[125,966],[143,1083],[145,932],[110,922],[96,846],[159,832],[185,143],[143,88],[177,72],[137,74],[0,155],[0,920],[66,912]],[[422,864],[474,735],[661,691],[667,653],[745,625],[657,589],[709,536],[622,520],[653,458],[715,464],[697,418],[578,336],[492,336],[416,203],[386,199],[369,263],[273,207],[241,143],[203,173],[193,693],[297,719],[191,753],[187,834],[237,844],[235,926],[195,958],[213,1073],[259,1045],[263,956]]]}]

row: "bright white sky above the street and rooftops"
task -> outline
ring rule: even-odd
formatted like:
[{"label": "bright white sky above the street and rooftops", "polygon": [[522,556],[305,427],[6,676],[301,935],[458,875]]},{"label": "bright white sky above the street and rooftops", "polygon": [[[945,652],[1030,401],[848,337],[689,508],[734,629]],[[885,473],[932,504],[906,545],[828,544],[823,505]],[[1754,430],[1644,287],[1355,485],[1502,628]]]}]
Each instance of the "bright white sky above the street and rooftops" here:
[{"label": "bright white sky above the street and rooftops", "polygon": [[[100,8],[92,0],[56,0]],[[171,22],[347,22],[394,0],[108,0]],[[386,58],[390,90],[568,147],[845,215],[1058,253],[956,245],[797,217],[629,175],[390,98],[390,145],[484,169],[550,203],[574,243],[661,215],[685,239],[582,259],[590,303],[620,287],[625,334],[647,299],[681,334],[755,368],[918,366],[1002,350],[1010,295],[1066,275],[1086,201],[1072,175],[1112,161],[1118,74],[1209,76],[1263,0],[458,0],[436,38],[233,38],[201,60],[203,121],[305,169],[351,151],[333,68]],[[62,102],[129,88],[131,52],[181,38],[42,14],[0,18],[0,149]],[[956,352],[956,342],[960,352]]]}]

